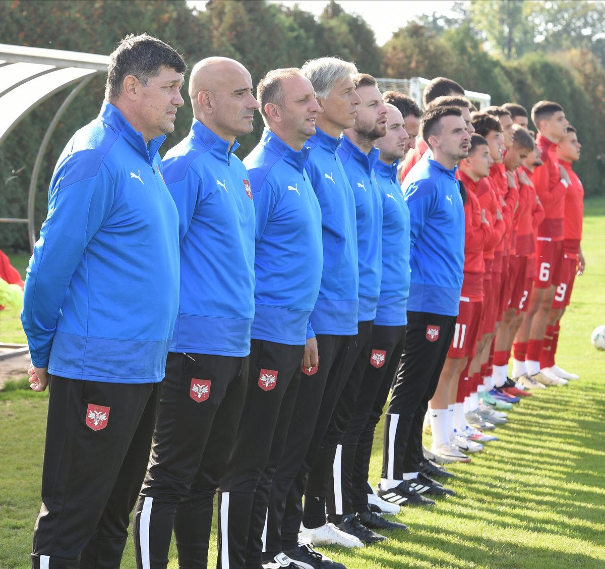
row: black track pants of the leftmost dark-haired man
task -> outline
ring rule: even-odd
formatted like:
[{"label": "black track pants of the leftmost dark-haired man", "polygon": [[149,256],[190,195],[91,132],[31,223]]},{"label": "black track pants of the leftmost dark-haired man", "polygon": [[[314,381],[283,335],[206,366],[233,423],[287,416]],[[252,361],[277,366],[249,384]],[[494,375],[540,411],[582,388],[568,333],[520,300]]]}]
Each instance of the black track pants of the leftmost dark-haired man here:
[{"label": "black track pants of the leftmost dark-haired man", "polygon": [[161,392],[51,376],[34,569],[120,566]]}]

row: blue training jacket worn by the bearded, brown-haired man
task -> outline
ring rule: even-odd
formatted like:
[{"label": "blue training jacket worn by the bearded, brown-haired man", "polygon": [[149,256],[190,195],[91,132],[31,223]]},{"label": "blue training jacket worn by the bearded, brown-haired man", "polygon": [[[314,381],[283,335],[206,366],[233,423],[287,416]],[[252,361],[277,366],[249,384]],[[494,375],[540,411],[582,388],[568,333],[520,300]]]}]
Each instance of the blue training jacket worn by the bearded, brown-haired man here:
[{"label": "blue training jacket worn by the bearded, brown-haired man", "polygon": [[374,320],[382,278],[382,199],[374,176],[380,152],[365,154],[342,135],[338,156],[355,194],[359,263],[359,322]]}]

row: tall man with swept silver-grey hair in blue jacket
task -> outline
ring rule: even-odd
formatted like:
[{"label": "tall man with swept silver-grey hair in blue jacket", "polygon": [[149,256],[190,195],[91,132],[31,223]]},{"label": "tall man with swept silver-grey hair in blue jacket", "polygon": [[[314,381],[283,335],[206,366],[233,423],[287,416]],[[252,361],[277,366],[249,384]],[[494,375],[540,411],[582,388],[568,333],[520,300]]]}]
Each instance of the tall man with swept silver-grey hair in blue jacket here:
[{"label": "tall man with swept silver-grey hair in blue jacket", "polygon": [[[355,123],[361,98],[352,80],[356,73],[353,64],[338,58],[315,59],[302,67],[302,73],[313,84],[320,107],[315,119],[316,133],[307,141],[307,171],[322,214],[324,264],[319,297],[309,317],[316,334],[319,364],[302,369],[305,375],[286,447],[270,488],[263,558],[269,561],[285,551],[302,567],[336,569],[342,565],[321,556],[308,544],[299,546],[298,532],[307,473],[341,389],[350,340],[357,334],[355,196],[336,150],[342,131]],[[261,532],[263,525],[264,519]],[[362,547],[361,541],[332,524],[324,523],[313,530],[312,536],[304,538],[316,545]]]}]

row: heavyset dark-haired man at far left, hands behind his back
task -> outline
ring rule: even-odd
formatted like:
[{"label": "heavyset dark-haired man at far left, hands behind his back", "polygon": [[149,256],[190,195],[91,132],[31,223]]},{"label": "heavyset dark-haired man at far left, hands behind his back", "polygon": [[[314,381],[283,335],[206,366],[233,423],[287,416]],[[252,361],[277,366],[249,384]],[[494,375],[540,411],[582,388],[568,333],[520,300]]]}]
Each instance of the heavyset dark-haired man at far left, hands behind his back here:
[{"label": "heavyset dark-haired man at far left, hands behind his back", "polygon": [[34,569],[122,559],[178,307],[178,214],[158,150],[186,68],[159,39],[123,39],[99,116],[50,183],[21,314],[31,387],[51,384]]}]

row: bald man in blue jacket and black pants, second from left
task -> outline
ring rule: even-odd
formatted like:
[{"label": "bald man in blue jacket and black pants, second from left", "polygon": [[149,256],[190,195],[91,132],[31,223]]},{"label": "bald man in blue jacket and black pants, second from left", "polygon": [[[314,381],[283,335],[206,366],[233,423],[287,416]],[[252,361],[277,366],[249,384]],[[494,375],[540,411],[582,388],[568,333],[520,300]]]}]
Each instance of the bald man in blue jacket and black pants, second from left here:
[{"label": "bald man in blue jacket and black pants, second from left", "polygon": [[206,567],[212,500],[246,398],[254,318],[255,214],[235,137],[258,109],[250,73],[208,58],[191,72],[194,119],[164,160],[177,205],[180,303],[166,361],[149,470],[134,513],[139,569]]}]

